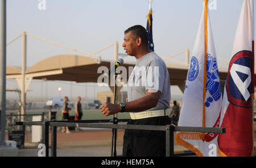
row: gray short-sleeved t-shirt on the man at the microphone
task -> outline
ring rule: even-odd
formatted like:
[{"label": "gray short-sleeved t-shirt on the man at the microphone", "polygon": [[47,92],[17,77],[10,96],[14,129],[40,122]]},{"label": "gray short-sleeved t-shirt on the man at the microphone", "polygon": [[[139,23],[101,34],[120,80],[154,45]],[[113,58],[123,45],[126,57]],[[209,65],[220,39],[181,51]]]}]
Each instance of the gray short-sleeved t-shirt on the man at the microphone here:
[{"label": "gray short-sleeved t-shirt on the man at the microphone", "polygon": [[154,52],[137,59],[137,64],[127,82],[128,102],[142,98],[146,95],[146,90],[151,89],[159,90],[161,95],[158,104],[147,111],[170,108],[169,73],[162,58]]}]

